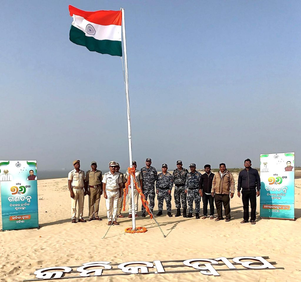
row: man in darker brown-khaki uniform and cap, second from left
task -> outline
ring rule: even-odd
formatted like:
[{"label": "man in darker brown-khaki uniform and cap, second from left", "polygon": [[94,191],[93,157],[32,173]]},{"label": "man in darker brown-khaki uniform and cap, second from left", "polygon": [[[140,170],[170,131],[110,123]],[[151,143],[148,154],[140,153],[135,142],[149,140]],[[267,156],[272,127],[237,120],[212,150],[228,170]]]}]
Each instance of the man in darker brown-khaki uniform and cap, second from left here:
[{"label": "man in darker brown-khaki uniform and cap, second from left", "polygon": [[97,169],[97,163],[91,163],[91,170],[86,172],[86,183],[90,191],[89,196],[89,221],[102,220],[98,216],[100,195],[102,194],[102,172]]}]

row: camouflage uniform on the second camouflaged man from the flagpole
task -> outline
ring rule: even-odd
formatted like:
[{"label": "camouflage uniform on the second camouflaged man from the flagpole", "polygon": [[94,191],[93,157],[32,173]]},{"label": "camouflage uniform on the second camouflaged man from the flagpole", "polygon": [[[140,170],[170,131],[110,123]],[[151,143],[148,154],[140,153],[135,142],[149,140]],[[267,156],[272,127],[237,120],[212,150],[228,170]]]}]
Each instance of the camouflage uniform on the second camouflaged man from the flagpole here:
[{"label": "camouflage uniform on the second camouflaged man from the flagpole", "polygon": [[164,174],[163,172],[158,174],[156,188],[158,191],[158,208],[159,211],[163,210],[163,200],[166,202],[167,212],[171,212],[171,194],[168,194],[168,190],[172,190],[173,181],[172,175],[169,172]]}]

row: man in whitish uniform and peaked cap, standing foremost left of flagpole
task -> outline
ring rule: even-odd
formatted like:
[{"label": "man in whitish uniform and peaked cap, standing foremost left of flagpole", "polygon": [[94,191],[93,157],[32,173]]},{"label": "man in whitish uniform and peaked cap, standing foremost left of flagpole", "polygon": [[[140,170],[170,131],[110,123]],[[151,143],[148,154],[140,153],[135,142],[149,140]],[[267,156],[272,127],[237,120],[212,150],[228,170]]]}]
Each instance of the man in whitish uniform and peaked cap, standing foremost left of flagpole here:
[{"label": "man in whitish uniform and peaked cap, standing foremost left of flagpole", "polygon": [[102,180],[104,198],[106,199],[108,225],[112,223],[119,225],[117,222],[117,203],[121,197],[122,179],[120,174],[115,172],[116,162],[109,163],[110,171],[104,174]]}]

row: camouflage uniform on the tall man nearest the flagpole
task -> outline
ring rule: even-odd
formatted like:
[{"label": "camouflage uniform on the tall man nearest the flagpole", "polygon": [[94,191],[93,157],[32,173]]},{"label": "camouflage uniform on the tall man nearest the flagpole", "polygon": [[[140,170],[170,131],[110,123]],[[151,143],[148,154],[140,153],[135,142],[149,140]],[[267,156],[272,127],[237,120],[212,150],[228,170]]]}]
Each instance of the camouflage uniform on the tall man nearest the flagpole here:
[{"label": "camouflage uniform on the tall man nearest the flagpole", "polygon": [[[145,196],[145,200],[147,200],[147,196],[149,197],[149,208],[151,212],[154,210],[155,206],[155,181],[157,180],[158,173],[157,170],[151,166],[149,169],[144,166],[141,168],[142,174],[142,193]],[[145,208],[142,205],[141,208],[142,214],[145,214]]]}]

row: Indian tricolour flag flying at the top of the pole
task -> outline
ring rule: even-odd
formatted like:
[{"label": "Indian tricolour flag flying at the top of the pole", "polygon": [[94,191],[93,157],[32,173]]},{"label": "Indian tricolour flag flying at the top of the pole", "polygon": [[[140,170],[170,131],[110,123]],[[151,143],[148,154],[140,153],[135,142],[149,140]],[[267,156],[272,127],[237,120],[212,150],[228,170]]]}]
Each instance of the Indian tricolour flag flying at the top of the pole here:
[{"label": "Indian tricolour flag flying at the top of the pole", "polygon": [[70,41],[88,50],[112,56],[122,56],[121,11],[86,12],[69,5],[73,22]]}]

